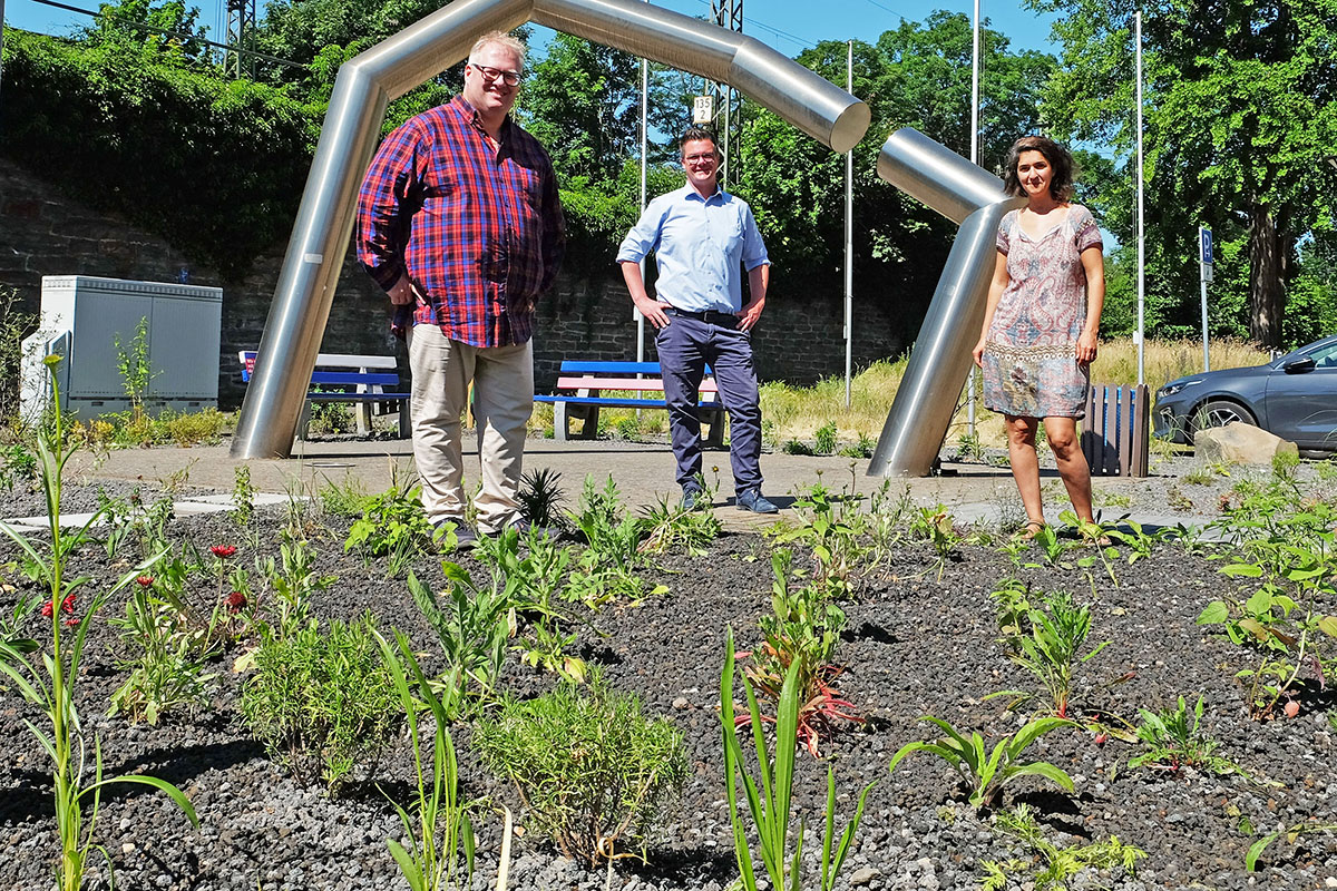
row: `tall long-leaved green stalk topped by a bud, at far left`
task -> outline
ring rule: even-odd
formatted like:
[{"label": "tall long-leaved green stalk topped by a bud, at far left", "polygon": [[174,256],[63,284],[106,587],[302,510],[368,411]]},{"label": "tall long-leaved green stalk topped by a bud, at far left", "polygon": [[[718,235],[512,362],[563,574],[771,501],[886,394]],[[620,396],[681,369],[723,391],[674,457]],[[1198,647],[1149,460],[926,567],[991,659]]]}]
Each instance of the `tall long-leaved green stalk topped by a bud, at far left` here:
[{"label": "tall long-leaved green stalk topped by a bud, at far left", "polygon": [[[53,810],[56,816],[56,835],[60,839],[60,860],[56,866],[56,887],[59,891],[80,891],[84,884],[84,872],[88,868],[88,858],[96,848],[111,864],[111,856],[106,848],[95,843],[98,826],[98,808],[102,803],[104,788],[118,783],[139,783],[150,785],[166,793],[180,810],[193,826],[199,826],[195,808],[190,800],[171,783],[154,776],[127,775],[104,777],[102,773],[102,740],[94,733],[94,756],[90,776],[87,760],[87,743],[79,720],[76,689],[80,676],[84,643],[88,637],[88,627],[92,617],[106,604],[107,598],[123,589],[130,581],[144,572],[162,554],[155,554],[132,568],[106,593],[92,598],[84,609],[82,617],[71,616],[79,588],[87,578],[67,578],[66,570],[71,553],[80,542],[87,540],[88,528],[100,518],[95,512],[72,534],[66,534],[60,525],[60,493],[63,489],[63,476],[66,462],[74,454],[67,449],[62,414],[60,414],[60,385],[55,374],[55,365],[60,357],[52,355],[44,359],[51,374],[53,422],[52,430],[41,431],[37,435],[37,457],[41,468],[41,485],[47,501],[47,521],[49,528],[49,550],[44,557],[39,546],[33,545],[13,528],[0,526],[9,538],[23,550],[27,560],[37,569],[43,588],[51,594],[48,601],[51,617],[51,651],[41,655],[41,668],[31,661],[25,652],[25,645],[13,647],[9,641],[0,641],[0,672],[4,672],[9,681],[19,689],[23,697],[36,705],[49,721],[51,732],[45,732],[32,721],[27,721],[28,729],[41,744],[43,751],[51,757],[51,783],[53,789]],[[44,609],[44,612],[48,612]],[[68,617],[67,617],[68,616]],[[74,641],[67,641],[62,628],[74,624]],[[20,641],[21,643],[21,641]],[[32,652],[32,651],[28,651]]]}]

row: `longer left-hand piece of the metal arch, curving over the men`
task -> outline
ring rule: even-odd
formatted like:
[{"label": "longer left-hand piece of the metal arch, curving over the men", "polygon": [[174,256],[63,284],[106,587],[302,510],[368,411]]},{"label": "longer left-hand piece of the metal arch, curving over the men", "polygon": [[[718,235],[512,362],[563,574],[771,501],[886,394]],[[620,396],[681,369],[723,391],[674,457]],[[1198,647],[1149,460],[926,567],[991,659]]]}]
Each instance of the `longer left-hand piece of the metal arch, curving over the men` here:
[{"label": "longer left-hand piece of the metal arch, curving over the men", "polygon": [[525,21],[733,84],[834,152],[862,139],[868,106],[765,44],[636,0],[455,0],[340,68],[287,243],[234,458],[286,458],[390,99],[463,60],[477,35]]}]

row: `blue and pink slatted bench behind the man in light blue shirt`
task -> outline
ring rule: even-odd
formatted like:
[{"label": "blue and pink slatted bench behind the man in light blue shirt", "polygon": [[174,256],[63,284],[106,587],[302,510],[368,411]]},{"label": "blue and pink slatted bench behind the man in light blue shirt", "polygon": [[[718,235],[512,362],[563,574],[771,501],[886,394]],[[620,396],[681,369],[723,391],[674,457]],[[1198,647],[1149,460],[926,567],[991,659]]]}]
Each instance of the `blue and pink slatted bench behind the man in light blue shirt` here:
[{"label": "blue and pink slatted bench behind the man in light blue shirt", "polygon": [[[599,430],[599,409],[667,409],[663,398],[648,395],[606,397],[606,390],[638,394],[663,393],[663,374],[658,362],[583,362],[564,361],[552,395],[536,395],[535,402],[552,403],[552,435],[559,442],[571,438],[572,418],[583,421],[578,434],[594,439]],[[639,377],[638,377],[639,375]],[[717,399],[715,378],[706,369],[701,382],[698,410],[701,422],[710,426],[706,442],[713,446],[725,442],[725,411]]]}]

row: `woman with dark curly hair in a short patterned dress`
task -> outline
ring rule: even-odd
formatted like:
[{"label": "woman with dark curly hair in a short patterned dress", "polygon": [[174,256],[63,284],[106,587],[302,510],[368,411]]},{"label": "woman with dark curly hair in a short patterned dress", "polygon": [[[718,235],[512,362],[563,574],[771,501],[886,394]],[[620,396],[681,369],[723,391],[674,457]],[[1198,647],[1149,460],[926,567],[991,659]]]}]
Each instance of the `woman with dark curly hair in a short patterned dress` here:
[{"label": "woman with dark curly hair in a short patterned dress", "polygon": [[1035,435],[1040,421],[1080,520],[1092,521],[1091,469],[1078,443],[1104,306],[1100,230],[1071,203],[1072,155],[1046,136],[1008,152],[1004,187],[1028,203],[1003,218],[999,256],[975,346],[984,405],[1007,419],[1012,477],[1034,538],[1044,528]]}]

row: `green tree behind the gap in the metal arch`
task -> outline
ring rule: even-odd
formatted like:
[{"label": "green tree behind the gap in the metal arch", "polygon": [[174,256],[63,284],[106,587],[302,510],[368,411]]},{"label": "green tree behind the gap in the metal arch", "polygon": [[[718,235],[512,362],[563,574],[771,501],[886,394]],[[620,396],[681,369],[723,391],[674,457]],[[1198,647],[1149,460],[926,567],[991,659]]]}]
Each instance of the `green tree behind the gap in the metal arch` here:
[{"label": "green tree behind the gap in the metal arch", "polygon": [[[981,81],[981,158],[993,167],[1017,135],[1039,126],[1040,88],[1054,60],[1012,53],[985,28]],[[798,61],[845,83],[846,44],[824,41]],[[969,155],[971,27],[963,15],[936,12],[904,23],[876,44],[854,41],[856,96],[869,103],[869,135],[854,147],[856,279],[877,282],[913,335],[933,294],[956,227],[882,182],[877,152],[892,131],[915,127]],[[845,158],[766,111],[749,107],[739,192],[757,212],[777,275],[777,294],[838,294],[844,267]]]}]

